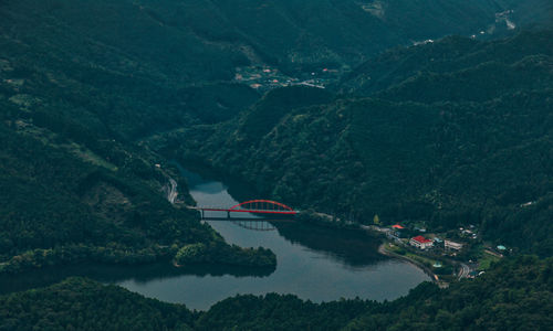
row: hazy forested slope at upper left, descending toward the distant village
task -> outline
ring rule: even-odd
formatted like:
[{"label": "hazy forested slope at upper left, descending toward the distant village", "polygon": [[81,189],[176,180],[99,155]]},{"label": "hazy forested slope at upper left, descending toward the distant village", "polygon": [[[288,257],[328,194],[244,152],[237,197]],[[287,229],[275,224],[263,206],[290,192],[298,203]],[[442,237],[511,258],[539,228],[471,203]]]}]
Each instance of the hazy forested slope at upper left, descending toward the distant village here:
[{"label": "hazy forested slope at upper left, descending toward the distant village", "polygon": [[124,139],[228,119],[258,98],[220,82],[243,55],[159,24],[132,1],[111,2],[3,3],[2,97],[27,96],[32,113]]}]

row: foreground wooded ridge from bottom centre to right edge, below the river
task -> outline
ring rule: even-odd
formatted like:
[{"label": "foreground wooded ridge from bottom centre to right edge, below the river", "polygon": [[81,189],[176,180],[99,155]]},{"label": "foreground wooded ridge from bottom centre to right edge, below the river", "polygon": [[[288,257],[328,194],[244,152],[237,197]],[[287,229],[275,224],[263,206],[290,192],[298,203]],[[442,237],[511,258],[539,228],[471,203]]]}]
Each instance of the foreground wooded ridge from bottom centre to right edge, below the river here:
[{"label": "foreground wooded ridge from bottom centre to right edge, below the river", "polygon": [[503,261],[476,280],[440,290],[425,282],[392,302],[314,305],[291,296],[239,296],[202,314],[202,330],[546,330],[552,322],[551,258]]}]

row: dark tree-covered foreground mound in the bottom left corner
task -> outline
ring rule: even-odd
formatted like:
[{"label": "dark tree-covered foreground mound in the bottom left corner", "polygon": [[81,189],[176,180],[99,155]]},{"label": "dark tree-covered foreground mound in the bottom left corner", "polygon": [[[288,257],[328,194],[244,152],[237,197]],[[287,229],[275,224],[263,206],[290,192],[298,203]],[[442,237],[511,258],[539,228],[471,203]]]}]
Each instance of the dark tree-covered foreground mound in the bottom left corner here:
[{"label": "dark tree-covered foreground mound in the bottom left corner", "polygon": [[192,313],[121,287],[69,278],[0,298],[1,330],[191,330]]}]

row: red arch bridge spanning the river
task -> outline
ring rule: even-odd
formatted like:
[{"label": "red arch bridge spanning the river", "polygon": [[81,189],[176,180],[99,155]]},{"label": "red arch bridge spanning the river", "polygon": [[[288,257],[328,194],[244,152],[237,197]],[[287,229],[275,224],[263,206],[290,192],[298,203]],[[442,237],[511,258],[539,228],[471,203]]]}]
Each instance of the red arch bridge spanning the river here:
[{"label": "red arch bridge spanning the river", "polygon": [[293,216],[299,213],[299,211],[272,200],[250,200],[231,207],[192,206],[190,209],[201,211],[202,218],[205,217],[205,212],[227,212],[227,218],[230,218],[230,213],[252,213],[284,216]]}]

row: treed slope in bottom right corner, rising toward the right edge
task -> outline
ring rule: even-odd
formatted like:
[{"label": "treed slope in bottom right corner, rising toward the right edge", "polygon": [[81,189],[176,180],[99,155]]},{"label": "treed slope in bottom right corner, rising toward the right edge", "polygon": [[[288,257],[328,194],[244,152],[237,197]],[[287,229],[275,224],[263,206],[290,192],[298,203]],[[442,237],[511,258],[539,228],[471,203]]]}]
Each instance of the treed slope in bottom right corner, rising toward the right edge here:
[{"label": "treed slope in bottom right corner, rising toward the right edge", "polygon": [[522,256],[446,290],[424,284],[345,330],[547,330],[553,309],[551,264],[551,258]]}]

